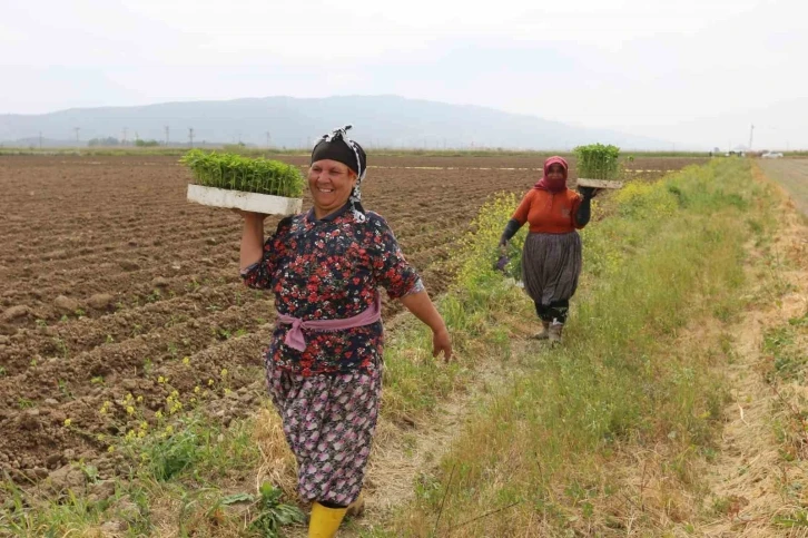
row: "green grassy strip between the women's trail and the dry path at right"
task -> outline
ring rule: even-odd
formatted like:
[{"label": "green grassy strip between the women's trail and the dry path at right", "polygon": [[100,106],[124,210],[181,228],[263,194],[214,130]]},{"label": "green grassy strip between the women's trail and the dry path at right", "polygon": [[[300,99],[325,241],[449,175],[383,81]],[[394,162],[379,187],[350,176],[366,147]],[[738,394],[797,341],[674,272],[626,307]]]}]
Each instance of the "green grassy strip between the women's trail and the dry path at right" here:
[{"label": "green grassy strip between the women's trail and the dry path at right", "polygon": [[[529,371],[481,401],[433,486],[417,489],[395,526],[374,536],[432,536],[439,518],[439,535],[459,526],[464,536],[625,528],[620,507],[643,501],[625,500],[631,490],[615,469],[631,452],[649,449],[664,454],[654,475],[666,477],[660,488],[667,483],[662,492],[670,496],[657,508],[688,513],[689,502],[673,496],[677,488],[698,491],[693,462],[715,448],[727,393],[718,369],[730,358],[721,352],[720,333],[688,352],[671,343],[691,319],[710,319],[717,306],[731,316],[742,304],[747,232],[737,223],[769,195],[741,160],[690,167],[619,192],[612,216],[583,233],[585,276],[565,345],[529,346],[514,358]],[[766,208],[759,211],[765,216]],[[483,244],[499,227],[482,232]],[[487,268],[490,254],[479,252],[461,272],[473,283],[461,296],[497,296],[502,285]],[[525,303],[489,303],[494,326],[487,331],[508,330],[508,313],[531,315]]]}]

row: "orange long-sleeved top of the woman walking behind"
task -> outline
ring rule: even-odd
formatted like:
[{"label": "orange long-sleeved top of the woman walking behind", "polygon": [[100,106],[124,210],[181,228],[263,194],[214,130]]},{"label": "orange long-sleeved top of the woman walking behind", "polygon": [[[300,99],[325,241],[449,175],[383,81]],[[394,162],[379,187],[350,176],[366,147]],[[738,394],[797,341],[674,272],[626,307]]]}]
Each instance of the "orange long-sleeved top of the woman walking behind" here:
[{"label": "orange long-sleeved top of the woman walking behind", "polygon": [[560,193],[531,188],[512,218],[521,225],[530,223],[534,234],[568,234],[583,227],[575,222],[580,205],[581,195],[569,188]]}]

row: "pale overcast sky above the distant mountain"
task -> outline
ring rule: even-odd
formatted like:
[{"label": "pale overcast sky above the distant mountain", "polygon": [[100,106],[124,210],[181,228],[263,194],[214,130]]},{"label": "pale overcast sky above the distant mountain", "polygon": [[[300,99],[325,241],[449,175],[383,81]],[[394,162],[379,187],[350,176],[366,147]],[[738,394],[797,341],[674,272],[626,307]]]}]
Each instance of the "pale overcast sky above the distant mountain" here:
[{"label": "pale overcast sky above the distant mountain", "polygon": [[0,0],[0,114],[395,94],[808,148],[806,0]]}]

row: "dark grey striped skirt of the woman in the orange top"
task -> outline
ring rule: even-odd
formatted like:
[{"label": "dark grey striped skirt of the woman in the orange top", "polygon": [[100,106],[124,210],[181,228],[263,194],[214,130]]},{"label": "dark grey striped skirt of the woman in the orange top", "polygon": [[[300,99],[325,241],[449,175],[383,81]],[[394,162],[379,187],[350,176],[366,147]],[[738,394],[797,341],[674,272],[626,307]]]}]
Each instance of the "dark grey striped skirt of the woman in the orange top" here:
[{"label": "dark grey striped skirt of the woman in the orange top", "polygon": [[522,281],[538,305],[569,300],[581,275],[581,236],[569,234],[528,234],[522,252]]}]

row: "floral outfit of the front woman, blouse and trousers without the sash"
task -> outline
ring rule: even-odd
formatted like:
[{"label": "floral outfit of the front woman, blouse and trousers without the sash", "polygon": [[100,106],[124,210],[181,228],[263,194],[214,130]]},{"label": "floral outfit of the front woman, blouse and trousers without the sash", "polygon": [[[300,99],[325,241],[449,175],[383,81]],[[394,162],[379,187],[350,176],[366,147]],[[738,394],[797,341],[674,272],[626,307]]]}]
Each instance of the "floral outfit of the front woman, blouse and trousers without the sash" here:
[{"label": "floral outfit of the front woman, blouse and trousers without the sash", "polygon": [[[387,223],[346,205],[323,219],[284,218],[263,258],[242,272],[250,287],[272,290],[280,314],[342,320],[373,307],[377,287],[391,299],[423,290]],[[284,343],[278,324],[264,353],[269,394],[298,463],[298,493],[346,506],[364,480],[382,390],[382,322],[338,331],[304,329],[306,349]]]}]

